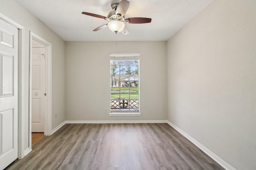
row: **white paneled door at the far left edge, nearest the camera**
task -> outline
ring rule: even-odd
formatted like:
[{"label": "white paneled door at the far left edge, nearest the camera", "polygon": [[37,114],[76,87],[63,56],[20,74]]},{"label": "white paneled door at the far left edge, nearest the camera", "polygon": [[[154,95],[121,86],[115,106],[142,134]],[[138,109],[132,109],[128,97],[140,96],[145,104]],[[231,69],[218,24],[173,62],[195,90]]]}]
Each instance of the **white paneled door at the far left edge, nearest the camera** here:
[{"label": "white paneled door at the far left edge, nearest the camera", "polygon": [[0,169],[18,158],[18,29],[0,19]]}]

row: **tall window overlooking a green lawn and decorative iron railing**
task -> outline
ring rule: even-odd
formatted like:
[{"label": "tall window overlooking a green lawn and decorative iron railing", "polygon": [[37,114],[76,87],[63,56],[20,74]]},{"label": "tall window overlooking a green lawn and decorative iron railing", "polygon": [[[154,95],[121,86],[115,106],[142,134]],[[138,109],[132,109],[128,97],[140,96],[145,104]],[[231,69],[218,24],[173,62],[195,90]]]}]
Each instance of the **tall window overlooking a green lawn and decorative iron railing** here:
[{"label": "tall window overlooking a green lawn and decorative iron railing", "polygon": [[140,111],[140,54],[110,54],[110,113]]}]

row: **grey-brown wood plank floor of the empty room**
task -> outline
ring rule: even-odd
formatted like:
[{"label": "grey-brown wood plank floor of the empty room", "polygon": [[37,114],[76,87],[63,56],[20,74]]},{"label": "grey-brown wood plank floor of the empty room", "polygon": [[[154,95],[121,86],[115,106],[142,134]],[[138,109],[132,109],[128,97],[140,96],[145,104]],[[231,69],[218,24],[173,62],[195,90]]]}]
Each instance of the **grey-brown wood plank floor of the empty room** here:
[{"label": "grey-brown wood plank floor of the empty room", "polygon": [[66,124],[8,170],[224,170],[167,123]]}]

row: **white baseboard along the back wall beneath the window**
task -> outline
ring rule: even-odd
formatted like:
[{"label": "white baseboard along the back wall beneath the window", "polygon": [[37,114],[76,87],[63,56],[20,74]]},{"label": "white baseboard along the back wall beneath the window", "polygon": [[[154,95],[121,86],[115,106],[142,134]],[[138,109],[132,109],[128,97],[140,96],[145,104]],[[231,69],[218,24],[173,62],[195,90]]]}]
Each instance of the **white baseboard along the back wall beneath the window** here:
[{"label": "white baseboard along the back wall beneath the window", "polygon": [[65,123],[166,123],[166,120],[66,120]]}]

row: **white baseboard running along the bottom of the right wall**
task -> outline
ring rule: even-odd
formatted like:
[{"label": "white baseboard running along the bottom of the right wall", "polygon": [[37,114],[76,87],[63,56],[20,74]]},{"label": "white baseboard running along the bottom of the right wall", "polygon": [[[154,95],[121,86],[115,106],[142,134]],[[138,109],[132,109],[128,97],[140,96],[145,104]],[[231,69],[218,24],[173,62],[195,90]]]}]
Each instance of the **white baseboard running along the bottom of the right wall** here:
[{"label": "white baseboard running along the bottom of the right wall", "polygon": [[213,160],[215,160],[220,166],[225,168],[226,170],[236,170],[230,164],[222,160],[220,157],[218,157],[216,154],[214,154],[212,151],[204,147],[201,143],[196,141],[196,139],[192,138],[190,135],[188,135],[186,132],[182,131],[180,128],[178,128],[176,125],[174,125],[172,122],[167,120],[167,123],[173,127],[176,131],[178,131],[180,134],[182,134],[184,137],[186,137],[190,142],[192,142],[194,145],[196,145],[199,149],[201,149],[204,153],[206,153],[208,156],[210,156]]}]

